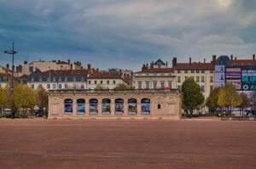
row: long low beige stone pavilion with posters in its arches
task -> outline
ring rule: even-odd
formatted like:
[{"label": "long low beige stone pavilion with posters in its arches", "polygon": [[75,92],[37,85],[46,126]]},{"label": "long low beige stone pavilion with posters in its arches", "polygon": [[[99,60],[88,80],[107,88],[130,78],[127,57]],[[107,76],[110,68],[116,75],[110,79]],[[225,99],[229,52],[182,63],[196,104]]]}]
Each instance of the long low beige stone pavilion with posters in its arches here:
[{"label": "long low beige stone pavilion with posters in its arches", "polygon": [[180,93],[173,90],[49,92],[49,118],[177,119],[180,112]]}]

